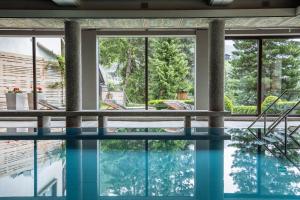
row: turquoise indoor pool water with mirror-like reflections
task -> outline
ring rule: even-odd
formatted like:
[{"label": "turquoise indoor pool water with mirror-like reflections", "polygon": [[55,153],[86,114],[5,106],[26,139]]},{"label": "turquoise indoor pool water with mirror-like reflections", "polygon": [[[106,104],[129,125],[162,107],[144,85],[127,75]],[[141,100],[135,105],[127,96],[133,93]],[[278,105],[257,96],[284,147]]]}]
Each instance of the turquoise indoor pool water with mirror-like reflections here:
[{"label": "turquoise indoor pool water with mirror-like reflections", "polygon": [[[167,132],[176,131],[180,133]],[[284,155],[272,144],[258,143],[245,129],[225,133],[231,139],[12,140],[12,136],[0,140],[0,197],[300,199],[297,148]]]}]

